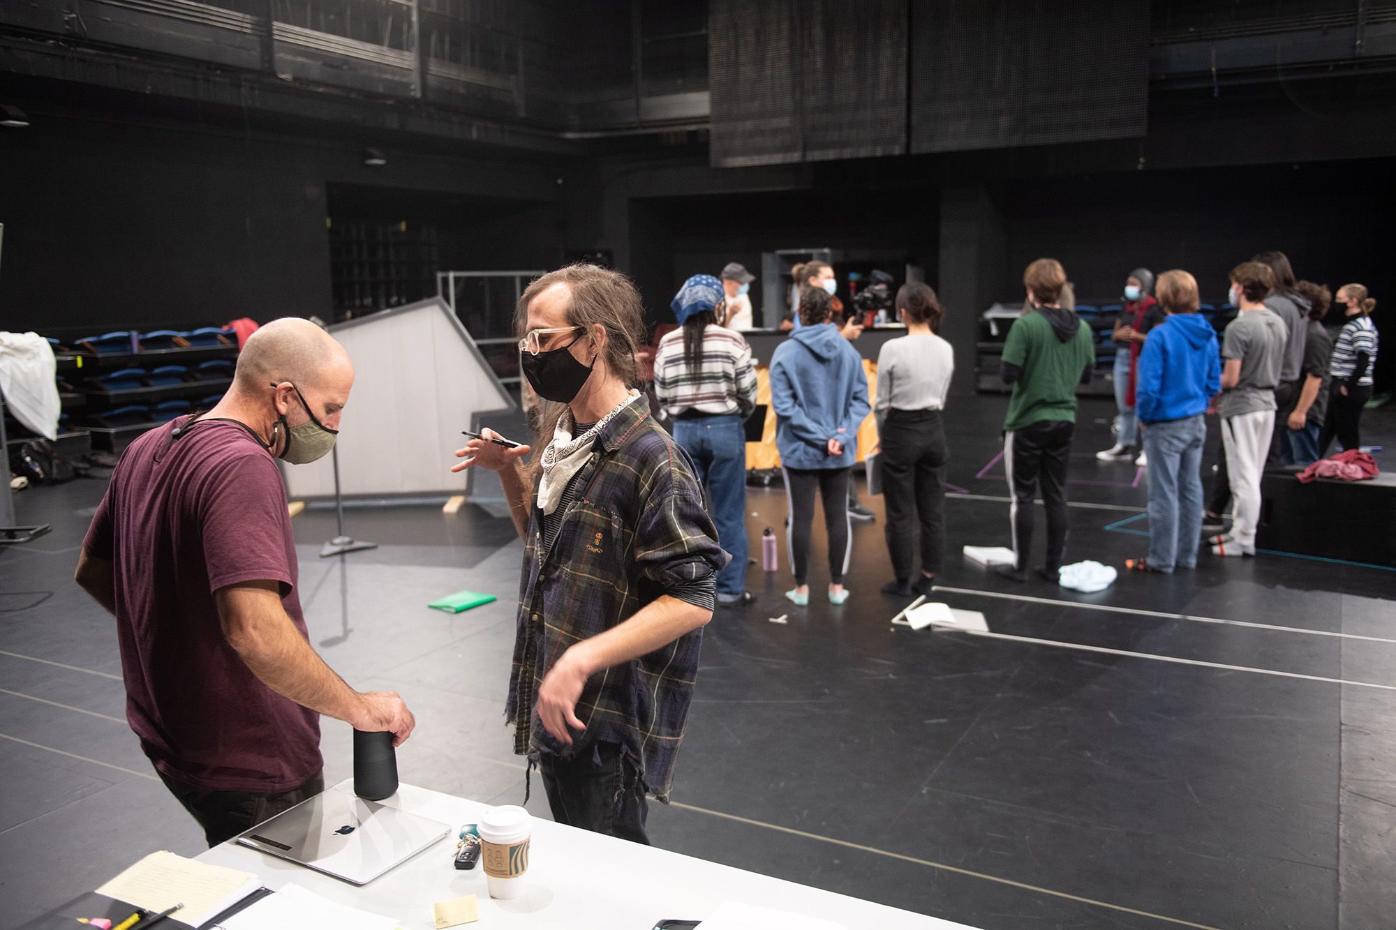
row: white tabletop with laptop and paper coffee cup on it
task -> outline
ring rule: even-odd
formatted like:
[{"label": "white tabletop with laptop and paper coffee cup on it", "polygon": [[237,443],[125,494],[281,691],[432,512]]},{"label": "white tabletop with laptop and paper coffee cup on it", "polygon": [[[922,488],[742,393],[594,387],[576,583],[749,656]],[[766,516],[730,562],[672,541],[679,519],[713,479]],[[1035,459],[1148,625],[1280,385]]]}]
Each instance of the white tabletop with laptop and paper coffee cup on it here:
[{"label": "white tabletop with laptop and paper coffee cup on it", "polygon": [[399,786],[383,803],[451,824],[451,835],[362,888],[232,843],[215,846],[198,859],[255,873],[272,890],[295,883],[332,901],[396,917],[405,930],[431,930],[431,905],[472,894],[480,905],[480,920],[465,924],[466,930],[651,930],[662,919],[701,920],[725,901],[822,917],[849,930],[970,930],[546,820],[533,821],[525,894],[494,901],[479,866],[461,871],[452,863],[461,824],[479,822],[487,804],[412,785]]}]

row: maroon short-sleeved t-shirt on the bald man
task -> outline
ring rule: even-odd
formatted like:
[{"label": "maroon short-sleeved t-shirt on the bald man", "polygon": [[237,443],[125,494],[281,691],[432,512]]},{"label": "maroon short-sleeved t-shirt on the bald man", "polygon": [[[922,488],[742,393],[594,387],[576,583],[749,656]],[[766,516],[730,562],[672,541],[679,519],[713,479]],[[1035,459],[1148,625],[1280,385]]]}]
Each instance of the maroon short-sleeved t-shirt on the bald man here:
[{"label": "maroon short-sleeved t-shirt on the bald man", "polygon": [[296,545],[276,464],[237,423],[179,418],[121,455],[82,547],[114,563],[126,719],[155,768],[214,790],[282,792],[322,767],[320,715],[251,673],[214,592],[279,581],[302,635]]}]

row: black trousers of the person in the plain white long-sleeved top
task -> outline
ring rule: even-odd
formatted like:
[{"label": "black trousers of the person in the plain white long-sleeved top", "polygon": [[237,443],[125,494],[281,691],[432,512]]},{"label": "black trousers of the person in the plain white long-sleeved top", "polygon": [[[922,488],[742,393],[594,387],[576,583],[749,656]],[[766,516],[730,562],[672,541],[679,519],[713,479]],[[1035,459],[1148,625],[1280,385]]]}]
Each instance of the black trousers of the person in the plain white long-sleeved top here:
[{"label": "black trousers of the person in the plain white long-sleeved top", "polygon": [[892,571],[912,577],[913,524],[920,524],[921,571],[937,574],[945,559],[945,429],[940,411],[886,412],[882,425],[882,504]]}]

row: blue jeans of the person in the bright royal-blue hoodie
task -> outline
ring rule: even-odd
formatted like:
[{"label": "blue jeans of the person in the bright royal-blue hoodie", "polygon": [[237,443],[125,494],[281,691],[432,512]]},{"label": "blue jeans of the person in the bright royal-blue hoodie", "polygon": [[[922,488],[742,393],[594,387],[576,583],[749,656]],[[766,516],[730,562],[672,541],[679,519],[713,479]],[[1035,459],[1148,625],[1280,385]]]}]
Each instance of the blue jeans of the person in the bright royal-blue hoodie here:
[{"label": "blue jeans of the person in the bright royal-blue hoodie", "polygon": [[1202,538],[1202,413],[1143,429],[1149,457],[1149,564],[1160,571],[1195,568]]}]

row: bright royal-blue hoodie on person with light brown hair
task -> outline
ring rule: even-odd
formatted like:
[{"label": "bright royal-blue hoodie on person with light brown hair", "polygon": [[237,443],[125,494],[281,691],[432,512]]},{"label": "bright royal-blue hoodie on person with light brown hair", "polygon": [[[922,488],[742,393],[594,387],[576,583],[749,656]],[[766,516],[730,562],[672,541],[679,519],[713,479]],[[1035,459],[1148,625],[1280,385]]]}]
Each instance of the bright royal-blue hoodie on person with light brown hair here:
[{"label": "bright royal-blue hoodie on person with light brown hair", "polygon": [[1142,423],[1178,420],[1208,409],[1222,390],[1217,334],[1196,313],[1177,313],[1149,330],[1139,352],[1135,415]]}]

